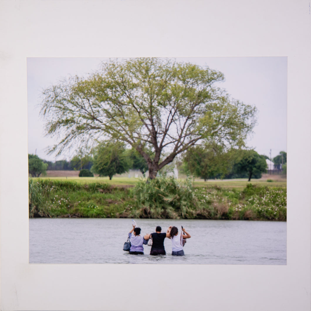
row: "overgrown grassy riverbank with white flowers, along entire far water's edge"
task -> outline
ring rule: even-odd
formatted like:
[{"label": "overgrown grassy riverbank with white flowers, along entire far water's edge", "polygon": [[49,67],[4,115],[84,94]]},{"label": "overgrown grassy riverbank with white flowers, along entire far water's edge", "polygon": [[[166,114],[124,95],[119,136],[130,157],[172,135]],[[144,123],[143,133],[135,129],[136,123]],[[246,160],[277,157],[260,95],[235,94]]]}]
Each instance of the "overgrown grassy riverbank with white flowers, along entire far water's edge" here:
[{"label": "overgrown grassy riverbank with white flowers, along entire far water's edge", "polygon": [[159,179],[133,187],[78,181],[29,179],[29,216],[286,220],[286,187],[272,187],[276,183],[220,187]]}]

